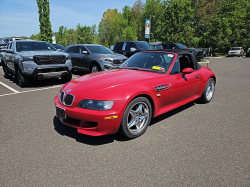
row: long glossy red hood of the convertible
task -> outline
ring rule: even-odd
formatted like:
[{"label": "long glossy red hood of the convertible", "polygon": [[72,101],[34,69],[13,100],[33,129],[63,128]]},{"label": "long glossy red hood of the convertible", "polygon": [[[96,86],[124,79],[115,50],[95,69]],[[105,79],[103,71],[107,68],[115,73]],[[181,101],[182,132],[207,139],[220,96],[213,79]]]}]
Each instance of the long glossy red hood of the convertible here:
[{"label": "long glossy red hood of the convertible", "polygon": [[117,92],[121,90],[132,89],[138,84],[142,85],[143,81],[148,81],[148,79],[151,81],[162,76],[163,74],[126,69],[101,71],[72,80],[62,87],[62,91],[66,92],[71,89],[70,94],[73,94],[75,101],[79,102],[83,98],[95,99],[96,95],[101,97],[102,93],[106,93],[108,89],[113,89],[116,95],[119,95]]}]

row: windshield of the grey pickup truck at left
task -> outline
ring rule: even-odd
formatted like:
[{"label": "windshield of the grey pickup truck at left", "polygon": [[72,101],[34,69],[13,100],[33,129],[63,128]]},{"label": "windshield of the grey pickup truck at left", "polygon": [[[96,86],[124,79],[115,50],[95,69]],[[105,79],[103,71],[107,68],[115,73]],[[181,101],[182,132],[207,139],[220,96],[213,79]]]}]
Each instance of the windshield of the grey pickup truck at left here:
[{"label": "windshield of the grey pickup truck at left", "polygon": [[55,48],[47,42],[17,42],[17,52],[21,51],[55,51]]}]

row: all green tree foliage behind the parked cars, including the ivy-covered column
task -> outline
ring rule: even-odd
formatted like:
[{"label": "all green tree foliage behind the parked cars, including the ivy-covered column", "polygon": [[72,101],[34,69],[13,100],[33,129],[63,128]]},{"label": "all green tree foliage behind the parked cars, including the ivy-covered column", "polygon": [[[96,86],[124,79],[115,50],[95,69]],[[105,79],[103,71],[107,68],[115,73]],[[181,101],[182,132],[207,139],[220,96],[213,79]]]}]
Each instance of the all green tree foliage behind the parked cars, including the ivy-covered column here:
[{"label": "all green tree foliage behind the parked cars, including the ivy-covered column", "polygon": [[[50,41],[49,0],[37,0],[40,33],[31,39]],[[114,45],[117,41],[146,40],[145,19],[151,15],[151,41],[183,43],[225,53],[232,46],[250,47],[249,0],[135,0],[122,12],[107,9],[96,27],[75,29],[61,26],[54,33],[57,43]],[[98,31],[97,31],[98,30]]]}]

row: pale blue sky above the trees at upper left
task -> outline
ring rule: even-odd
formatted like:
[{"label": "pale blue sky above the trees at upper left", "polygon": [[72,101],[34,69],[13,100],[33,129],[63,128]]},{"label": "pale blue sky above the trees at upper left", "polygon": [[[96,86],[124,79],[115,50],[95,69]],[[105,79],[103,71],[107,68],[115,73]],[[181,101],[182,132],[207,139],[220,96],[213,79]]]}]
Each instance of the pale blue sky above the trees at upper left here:
[{"label": "pale blue sky above the trees at upper left", "polygon": [[[98,27],[107,9],[125,5],[133,6],[136,0],[50,0],[50,21],[52,31],[60,26],[68,29],[76,25]],[[142,1],[144,2],[144,1]],[[36,0],[0,0],[0,38],[27,36],[39,33],[39,18]]]}]

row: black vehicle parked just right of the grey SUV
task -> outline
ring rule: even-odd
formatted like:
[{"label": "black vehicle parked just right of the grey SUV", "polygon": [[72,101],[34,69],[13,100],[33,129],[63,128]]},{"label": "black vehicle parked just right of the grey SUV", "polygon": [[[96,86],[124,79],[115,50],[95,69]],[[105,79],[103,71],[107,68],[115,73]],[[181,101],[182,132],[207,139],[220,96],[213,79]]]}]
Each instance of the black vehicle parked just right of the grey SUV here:
[{"label": "black vehicle parked just right of the grey SUV", "polygon": [[116,42],[113,51],[115,53],[123,54],[127,57],[131,57],[133,54],[154,49],[148,42],[145,41],[126,41],[126,42]]}]

